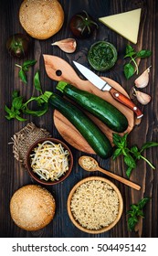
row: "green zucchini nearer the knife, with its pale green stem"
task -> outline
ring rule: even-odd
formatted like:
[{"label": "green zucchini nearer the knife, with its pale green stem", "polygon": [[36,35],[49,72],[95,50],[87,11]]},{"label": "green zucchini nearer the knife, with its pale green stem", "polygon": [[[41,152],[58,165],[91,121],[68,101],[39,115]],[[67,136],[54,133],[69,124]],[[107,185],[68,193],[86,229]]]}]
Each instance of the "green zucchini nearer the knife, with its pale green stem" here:
[{"label": "green zucchini nearer the knife, with its pale green stem", "polygon": [[76,101],[83,109],[98,117],[112,131],[122,133],[128,127],[127,118],[110,102],[88,91],[82,91],[65,81],[59,81],[57,89]]}]

